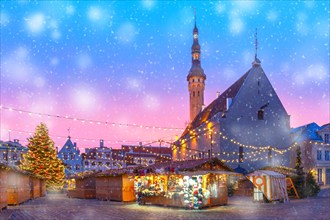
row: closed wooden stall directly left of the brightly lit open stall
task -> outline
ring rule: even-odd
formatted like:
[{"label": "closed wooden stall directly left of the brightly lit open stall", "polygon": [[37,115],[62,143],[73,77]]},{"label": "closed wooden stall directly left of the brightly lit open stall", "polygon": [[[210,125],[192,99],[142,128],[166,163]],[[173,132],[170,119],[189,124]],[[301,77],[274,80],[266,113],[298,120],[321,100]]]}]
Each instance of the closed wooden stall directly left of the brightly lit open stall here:
[{"label": "closed wooden stall directly left of the brightly lit open stall", "polygon": [[135,201],[133,169],[106,170],[96,176],[96,198]]}]

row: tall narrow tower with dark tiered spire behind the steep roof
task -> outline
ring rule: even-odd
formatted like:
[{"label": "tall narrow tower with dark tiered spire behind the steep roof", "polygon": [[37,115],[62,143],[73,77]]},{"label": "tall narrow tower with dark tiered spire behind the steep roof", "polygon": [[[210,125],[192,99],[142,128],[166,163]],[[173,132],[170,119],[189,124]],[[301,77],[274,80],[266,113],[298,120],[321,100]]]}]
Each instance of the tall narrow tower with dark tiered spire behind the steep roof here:
[{"label": "tall narrow tower with dark tiered spire behind the steep roof", "polygon": [[195,27],[193,30],[193,45],[191,46],[191,68],[187,76],[188,90],[190,96],[190,122],[194,120],[196,115],[202,110],[204,105],[204,88],[206,75],[201,67],[201,47],[198,43],[198,29],[196,26],[195,13]]}]

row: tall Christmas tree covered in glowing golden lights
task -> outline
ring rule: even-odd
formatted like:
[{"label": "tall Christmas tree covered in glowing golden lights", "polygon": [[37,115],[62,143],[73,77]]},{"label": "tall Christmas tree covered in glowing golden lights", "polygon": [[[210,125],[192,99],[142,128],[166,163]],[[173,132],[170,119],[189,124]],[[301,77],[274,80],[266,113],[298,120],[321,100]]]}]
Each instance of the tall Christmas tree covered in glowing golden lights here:
[{"label": "tall Christmas tree covered in glowing golden lights", "polygon": [[57,157],[47,126],[44,123],[38,125],[35,134],[28,141],[29,150],[23,156],[21,169],[44,178],[47,190],[61,190],[65,177],[64,165]]}]

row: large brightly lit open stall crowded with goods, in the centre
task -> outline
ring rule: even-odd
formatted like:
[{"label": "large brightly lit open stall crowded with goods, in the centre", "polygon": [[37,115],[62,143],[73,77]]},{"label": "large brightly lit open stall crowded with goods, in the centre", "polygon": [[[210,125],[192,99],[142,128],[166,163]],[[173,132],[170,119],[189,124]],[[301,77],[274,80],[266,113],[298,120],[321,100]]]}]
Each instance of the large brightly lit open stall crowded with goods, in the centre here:
[{"label": "large brightly lit open stall crowded with goods, in the centre", "polygon": [[231,175],[216,158],[172,161],[139,170],[134,186],[139,204],[200,209],[227,204]]}]

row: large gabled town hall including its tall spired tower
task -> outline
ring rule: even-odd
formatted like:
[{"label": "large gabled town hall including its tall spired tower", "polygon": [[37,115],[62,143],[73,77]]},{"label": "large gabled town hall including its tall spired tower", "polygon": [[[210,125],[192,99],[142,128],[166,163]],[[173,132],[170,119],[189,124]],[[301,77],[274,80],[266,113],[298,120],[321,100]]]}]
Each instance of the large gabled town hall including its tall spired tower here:
[{"label": "large gabled town hall including its tall spired tower", "polygon": [[252,67],[206,107],[200,54],[195,19],[187,76],[190,123],[174,142],[173,159],[218,157],[232,168],[240,165],[248,171],[287,165],[290,116],[261,66],[257,46]]}]

